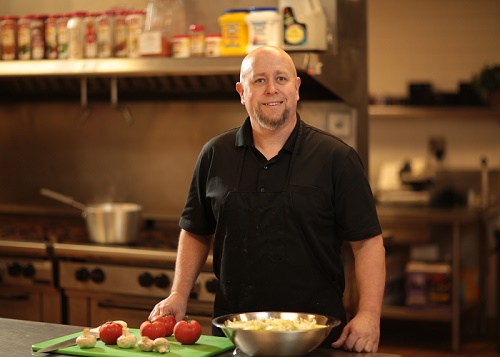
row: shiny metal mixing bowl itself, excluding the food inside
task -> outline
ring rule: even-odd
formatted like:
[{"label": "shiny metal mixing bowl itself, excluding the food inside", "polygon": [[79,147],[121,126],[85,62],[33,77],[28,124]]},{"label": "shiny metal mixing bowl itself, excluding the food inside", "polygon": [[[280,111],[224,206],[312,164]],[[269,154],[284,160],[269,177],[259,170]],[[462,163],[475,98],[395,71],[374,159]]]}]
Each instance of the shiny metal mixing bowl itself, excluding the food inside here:
[{"label": "shiny metal mixing bowl itself, excluding the food inside", "polygon": [[[264,331],[242,330],[226,326],[230,320],[249,321],[269,319],[271,317],[286,320],[315,319],[318,325],[325,327],[305,331]],[[249,356],[303,356],[318,347],[328,336],[332,328],[340,325],[340,320],[325,315],[297,312],[247,312],[219,316],[212,323],[221,328],[224,334],[238,349]]]}]

